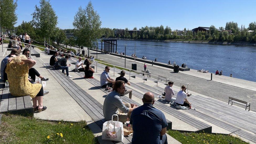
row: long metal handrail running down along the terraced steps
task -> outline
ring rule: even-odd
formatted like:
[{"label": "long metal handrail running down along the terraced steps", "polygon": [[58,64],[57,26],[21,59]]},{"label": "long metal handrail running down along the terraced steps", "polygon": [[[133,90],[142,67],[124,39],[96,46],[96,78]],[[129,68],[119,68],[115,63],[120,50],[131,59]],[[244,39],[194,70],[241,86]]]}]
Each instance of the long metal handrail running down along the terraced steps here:
[{"label": "long metal handrail running down along the terraced steps", "polygon": [[[0,37],[0,38],[2,38],[2,37]],[[5,38],[5,39],[6,39],[6,38]],[[7,39],[7,40],[10,40],[10,39]],[[15,41],[15,40],[11,40],[11,41]],[[19,42],[19,41],[16,41],[16,42]],[[20,42],[20,43],[25,44],[24,42]],[[31,44],[26,44],[26,45],[35,46],[35,47],[40,47],[40,46],[36,46],[36,45],[31,45]],[[47,49],[47,48],[45,48],[45,47],[40,47],[40,48],[42,48],[42,49]],[[47,49],[47,50],[51,50],[51,49]],[[51,51],[55,51],[55,50],[51,50]],[[67,53],[64,53],[64,52],[61,52],[61,53],[62,53],[62,54],[67,54]],[[71,55],[71,54],[67,54],[67,55]],[[80,57],[80,56],[76,56],[76,55],[71,55],[71,56]],[[85,58],[85,57],[81,57],[81,58]],[[85,58],[85,59],[90,60],[89,58]],[[94,61],[96,61],[96,63],[97,63],[97,62],[100,62],[100,61],[97,61],[97,60],[94,60]],[[111,66],[114,66],[114,67],[121,67],[121,66],[112,65],[112,64],[109,64],[109,63],[105,63],[105,62],[100,62],[100,63],[107,64],[107,65],[111,65]],[[124,67],[121,67],[121,68],[124,68]],[[132,70],[132,69],[129,69],[129,68],[125,68],[125,69],[127,69],[127,70],[129,70],[129,71],[135,71],[135,72],[141,73],[140,71]],[[97,71],[97,70],[96,70],[96,71]],[[147,74],[147,73],[143,72],[143,74],[144,74],[144,82],[145,82],[145,74]],[[157,77],[157,85],[158,85],[158,79],[159,79],[159,77],[161,77],[161,76],[156,76],[156,75],[153,75],[153,74],[150,74],[150,75]],[[164,77],[161,77],[161,78],[164,78]],[[174,81],[175,81],[175,80],[174,80]],[[179,81],[175,81],[175,82],[179,82]],[[181,85],[182,83],[183,83],[183,84],[186,84],[187,87],[188,87],[188,85],[190,85],[190,83],[184,83],[184,82],[179,82],[179,83],[180,83],[180,85]],[[181,86],[180,86],[180,87],[181,87]],[[187,89],[188,89],[188,88],[187,88]]]}]

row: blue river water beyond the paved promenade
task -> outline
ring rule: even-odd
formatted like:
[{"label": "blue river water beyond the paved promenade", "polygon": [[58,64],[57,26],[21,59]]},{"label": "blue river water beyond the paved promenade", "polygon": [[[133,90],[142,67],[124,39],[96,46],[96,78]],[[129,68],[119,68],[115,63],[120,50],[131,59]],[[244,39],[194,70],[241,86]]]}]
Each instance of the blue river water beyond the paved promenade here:
[{"label": "blue river water beyond the paved promenade", "polygon": [[[192,44],[183,42],[157,42],[117,40],[117,50],[131,56],[136,42],[136,56],[146,56],[148,60],[157,58],[159,62],[178,65],[186,63],[195,70],[223,71],[223,75],[256,82],[256,47],[236,45]],[[101,44],[99,44],[101,47]]]}]

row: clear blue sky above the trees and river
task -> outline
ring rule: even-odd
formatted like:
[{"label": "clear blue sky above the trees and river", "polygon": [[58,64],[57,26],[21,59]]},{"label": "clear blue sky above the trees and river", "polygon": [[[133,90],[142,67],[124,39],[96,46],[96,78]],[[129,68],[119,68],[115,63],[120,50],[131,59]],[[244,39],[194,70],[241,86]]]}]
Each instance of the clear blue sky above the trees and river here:
[{"label": "clear blue sky above the trees and river", "polygon": [[[51,0],[58,16],[58,27],[73,28],[72,22],[79,6],[83,8],[88,0]],[[103,1],[92,0],[94,10],[100,15],[102,28],[141,28],[142,26],[170,26],[171,29],[193,29],[198,26],[214,25],[216,28],[234,21],[238,26],[256,21],[256,1]],[[16,13],[18,26],[22,21],[32,20],[31,14],[39,6],[39,0],[18,0]]]}]

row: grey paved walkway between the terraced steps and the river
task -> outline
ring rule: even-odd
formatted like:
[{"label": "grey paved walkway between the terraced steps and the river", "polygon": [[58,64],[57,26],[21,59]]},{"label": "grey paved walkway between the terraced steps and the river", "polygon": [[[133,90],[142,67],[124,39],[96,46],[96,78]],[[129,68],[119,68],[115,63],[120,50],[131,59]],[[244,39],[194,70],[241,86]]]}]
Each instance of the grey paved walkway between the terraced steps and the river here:
[{"label": "grey paved walkway between the terraced steps and the river", "polygon": [[[77,48],[74,48],[77,49]],[[88,51],[85,50],[85,53],[87,54]],[[90,51],[90,54],[96,58],[96,51]],[[100,54],[98,52],[98,59],[102,59],[103,61],[106,61],[108,63],[111,63],[113,65],[121,66],[124,67],[124,58],[120,58],[117,56],[109,55],[109,54]],[[134,62],[134,60],[129,60],[126,59],[126,68],[131,69],[131,64],[136,63],[137,64],[137,70],[141,71],[144,70],[142,62]],[[230,78],[223,76],[225,80],[222,80],[223,83],[216,82],[216,81],[208,81],[205,79],[207,76],[202,76],[203,78],[200,78],[201,76],[198,75],[199,77],[194,76],[194,74],[191,76],[190,73],[186,72],[179,72],[179,73],[174,73],[172,69],[168,68],[163,68],[160,66],[152,66],[150,64],[147,65],[147,69],[150,70],[151,74],[154,75],[161,75],[163,77],[169,77],[173,81],[180,81],[184,83],[190,83],[189,85],[189,90],[192,90],[193,92],[200,93],[202,95],[206,95],[211,98],[215,98],[218,100],[221,100],[223,102],[228,102],[228,97],[234,97],[238,98],[247,102],[251,103],[251,110],[256,111],[256,103],[255,103],[255,98],[256,98],[256,92],[253,90],[248,90],[244,89],[241,87],[237,87],[237,84],[242,81],[243,83],[246,83],[245,80],[237,79],[237,78]],[[195,71],[195,70],[194,70]],[[201,75],[204,75],[204,73],[199,73]],[[214,76],[218,77],[218,76]],[[222,77],[222,76],[219,76]],[[209,77],[210,79],[210,77]],[[217,78],[216,78],[217,79]],[[232,79],[233,81],[231,81]],[[229,82],[229,84],[225,84],[224,82]],[[256,87],[255,82],[248,82],[248,86],[252,85],[252,87]],[[174,82],[175,86],[180,86],[180,83]],[[233,86],[235,85],[235,86]]]}]

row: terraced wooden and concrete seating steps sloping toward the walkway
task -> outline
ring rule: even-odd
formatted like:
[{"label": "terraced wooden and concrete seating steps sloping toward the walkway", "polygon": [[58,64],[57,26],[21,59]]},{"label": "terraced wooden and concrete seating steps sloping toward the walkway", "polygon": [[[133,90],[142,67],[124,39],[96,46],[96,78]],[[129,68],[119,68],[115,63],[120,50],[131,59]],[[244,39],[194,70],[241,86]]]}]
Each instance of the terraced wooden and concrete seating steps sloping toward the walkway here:
[{"label": "terraced wooden and concrete seating steps sloping toward the walkway", "polygon": [[[34,50],[41,54],[41,58],[43,60],[49,60],[51,57],[51,55],[43,54],[44,52],[41,52],[37,48]],[[63,89],[65,89],[66,93],[69,94],[70,97],[72,97],[90,116],[92,121],[88,123],[88,126],[93,132],[95,132],[95,136],[98,139],[101,139],[101,135],[98,135],[100,133],[99,130],[95,131],[94,129],[95,126],[98,127],[97,129],[102,129],[103,123],[105,122],[103,115],[103,101],[104,97],[110,93],[108,90],[105,90],[100,86],[100,74],[104,71],[105,65],[96,61],[92,63],[92,67],[94,67],[95,70],[94,78],[84,78],[84,74],[82,72],[71,71],[70,73],[72,73],[73,78],[68,78],[60,70],[55,70],[54,68],[46,69],[46,67],[50,66],[47,61],[42,61],[35,56],[33,58],[39,62],[39,65],[42,65],[42,67],[45,68],[45,73],[48,73],[55,78],[52,79],[52,81],[60,84]],[[67,63],[74,64],[75,62],[76,58],[73,57],[67,60]],[[72,70],[73,67],[74,66],[71,66],[69,69]],[[118,77],[120,71],[121,70],[115,68],[115,70],[111,71],[109,74],[111,77]],[[256,118],[256,114],[254,112],[241,111],[241,108],[228,105],[227,103],[225,104],[224,102],[220,102],[212,98],[207,98],[206,96],[193,94],[193,92],[191,92],[192,95],[189,97],[189,101],[193,104],[192,109],[176,109],[174,106],[170,105],[168,101],[158,97],[164,92],[166,82],[172,81],[171,79],[158,76],[161,78],[159,78],[156,82],[156,79],[154,78],[148,77],[147,80],[145,80],[145,76],[142,76],[141,74],[131,72],[130,75],[130,71],[125,70],[125,72],[129,74],[129,76],[126,77],[127,79],[129,78],[129,82],[131,84],[131,86],[127,85],[126,89],[132,89],[133,97],[130,99],[126,95],[121,96],[122,101],[140,106],[143,104],[141,101],[143,94],[146,92],[152,92],[155,97],[154,107],[161,110],[166,115],[166,120],[168,123],[167,130],[196,133],[206,132],[232,134],[240,136],[244,140],[256,142],[254,135],[256,131],[253,129],[253,126],[256,126],[256,123],[252,122],[252,120]],[[142,73],[145,73],[145,71],[142,71]],[[81,84],[85,84],[87,88],[84,89],[81,87]],[[92,92],[90,92],[91,89],[93,89],[93,93],[96,92],[97,94],[94,95]],[[175,93],[177,93],[179,90],[179,87],[174,87]],[[3,90],[1,97],[2,99],[7,97],[4,92],[5,91]],[[30,110],[33,112],[33,107],[29,96],[13,97],[8,95],[8,98],[9,104],[14,103],[14,101],[16,101],[18,104],[20,99],[23,98],[24,107],[22,109],[25,110],[28,108],[25,103],[30,102]],[[2,108],[2,104],[4,104],[4,101],[1,100],[0,109]],[[18,110],[18,108],[21,108],[21,106],[17,105],[16,109]],[[9,106],[8,110],[12,111],[14,108]],[[225,113],[225,115],[222,113]],[[250,115],[250,118],[244,119],[244,116],[246,115]],[[131,140],[132,135],[125,136],[122,143],[131,143]],[[100,141],[104,142],[104,140]],[[116,142],[113,141],[113,143]]]}]

